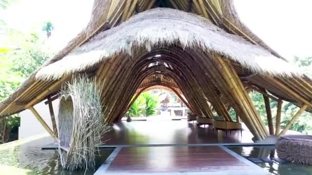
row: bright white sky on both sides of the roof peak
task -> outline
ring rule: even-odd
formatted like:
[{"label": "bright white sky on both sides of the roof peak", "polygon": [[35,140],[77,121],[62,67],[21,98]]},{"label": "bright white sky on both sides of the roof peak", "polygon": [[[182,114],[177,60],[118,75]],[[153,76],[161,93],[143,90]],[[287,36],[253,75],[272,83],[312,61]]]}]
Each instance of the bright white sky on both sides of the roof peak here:
[{"label": "bright white sky on both sides of the roof peak", "polygon": [[[92,0],[17,0],[0,15],[13,29],[31,31],[50,20],[49,39],[60,50],[88,23]],[[310,0],[235,0],[239,17],[267,45],[287,59],[312,56]]]}]

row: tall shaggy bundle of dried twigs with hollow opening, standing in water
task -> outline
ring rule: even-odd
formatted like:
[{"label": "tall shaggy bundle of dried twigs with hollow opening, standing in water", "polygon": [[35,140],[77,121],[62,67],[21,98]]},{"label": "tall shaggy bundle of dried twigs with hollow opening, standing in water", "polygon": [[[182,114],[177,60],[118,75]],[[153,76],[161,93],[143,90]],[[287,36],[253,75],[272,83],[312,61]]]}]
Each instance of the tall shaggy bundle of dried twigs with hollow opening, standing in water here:
[{"label": "tall shaggy bundle of dried twigs with hollow opening, standing in water", "polygon": [[57,126],[61,164],[66,169],[95,167],[101,136],[108,131],[100,97],[100,86],[85,76],[62,88]]}]

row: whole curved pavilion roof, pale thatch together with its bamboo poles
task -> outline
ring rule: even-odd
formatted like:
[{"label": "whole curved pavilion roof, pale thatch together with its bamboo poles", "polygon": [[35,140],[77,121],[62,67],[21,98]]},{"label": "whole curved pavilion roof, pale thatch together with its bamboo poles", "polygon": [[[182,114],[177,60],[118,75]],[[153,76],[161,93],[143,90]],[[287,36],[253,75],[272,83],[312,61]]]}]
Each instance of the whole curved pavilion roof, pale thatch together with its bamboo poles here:
[{"label": "whole curved pavilion roof, pale thatch together with its bamboo poles", "polygon": [[231,0],[95,0],[88,26],[0,104],[0,116],[55,95],[81,73],[105,82],[108,122],[153,85],[181,92],[206,117],[214,108],[230,121],[232,106],[258,139],[267,132],[250,89],[312,107],[312,81],[243,25]]}]

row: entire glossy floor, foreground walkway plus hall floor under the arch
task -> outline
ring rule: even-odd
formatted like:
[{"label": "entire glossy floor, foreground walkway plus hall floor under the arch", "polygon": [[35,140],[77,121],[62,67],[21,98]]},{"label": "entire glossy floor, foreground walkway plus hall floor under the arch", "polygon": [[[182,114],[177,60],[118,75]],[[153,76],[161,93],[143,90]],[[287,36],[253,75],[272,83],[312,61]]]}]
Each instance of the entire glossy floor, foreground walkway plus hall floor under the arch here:
[{"label": "entire glossy floor, foreground walkway plus hall floor under the arch", "polygon": [[116,147],[98,174],[268,174],[219,144],[253,144],[250,132],[213,133],[196,122],[133,121],[113,125],[103,141]]}]

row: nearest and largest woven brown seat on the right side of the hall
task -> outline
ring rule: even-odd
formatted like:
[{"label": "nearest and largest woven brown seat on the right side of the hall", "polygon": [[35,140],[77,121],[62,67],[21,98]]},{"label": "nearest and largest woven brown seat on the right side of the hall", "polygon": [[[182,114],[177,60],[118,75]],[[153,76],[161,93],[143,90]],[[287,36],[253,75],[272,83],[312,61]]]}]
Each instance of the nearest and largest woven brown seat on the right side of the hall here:
[{"label": "nearest and largest woven brown seat on the right side of the hall", "polygon": [[228,131],[232,134],[232,130],[240,130],[242,135],[242,124],[240,122],[213,120],[212,125],[216,129],[216,133],[218,133],[218,130],[225,130],[227,136]]}]

